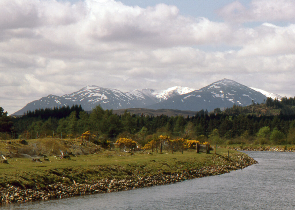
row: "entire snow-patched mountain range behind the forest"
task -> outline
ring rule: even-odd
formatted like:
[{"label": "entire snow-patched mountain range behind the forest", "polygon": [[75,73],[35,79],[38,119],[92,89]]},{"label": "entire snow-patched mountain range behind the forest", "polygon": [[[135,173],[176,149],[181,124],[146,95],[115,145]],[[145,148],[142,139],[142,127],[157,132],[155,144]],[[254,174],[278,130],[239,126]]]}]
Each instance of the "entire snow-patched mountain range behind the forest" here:
[{"label": "entire snow-patched mountain range behind the forest", "polygon": [[56,106],[81,105],[84,110],[92,110],[96,105],[103,109],[176,109],[199,111],[215,108],[232,107],[234,104],[246,106],[253,101],[262,103],[267,97],[282,98],[281,96],[250,88],[238,82],[222,79],[201,89],[175,86],[167,90],[150,88],[122,92],[120,90],[88,85],[81,90],[63,96],[48,95],[32,101],[12,115],[22,115],[27,111]]}]

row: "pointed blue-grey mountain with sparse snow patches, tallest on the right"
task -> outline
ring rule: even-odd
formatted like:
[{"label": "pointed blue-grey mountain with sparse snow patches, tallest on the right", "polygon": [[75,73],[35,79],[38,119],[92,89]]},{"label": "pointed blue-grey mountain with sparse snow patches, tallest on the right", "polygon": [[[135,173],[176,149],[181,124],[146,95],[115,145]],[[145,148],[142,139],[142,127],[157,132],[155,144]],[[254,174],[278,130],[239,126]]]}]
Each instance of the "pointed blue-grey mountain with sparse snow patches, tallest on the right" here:
[{"label": "pointed blue-grey mountain with sparse snow patches, tallest on the right", "polygon": [[246,106],[252,104],[253,101],[261,103],[265,99],[266,96],[258,91],[233,80],[223,79],[199,90],[176,95],[147,108],[212,111],[215,108],[232,107],[234,104]]}]

